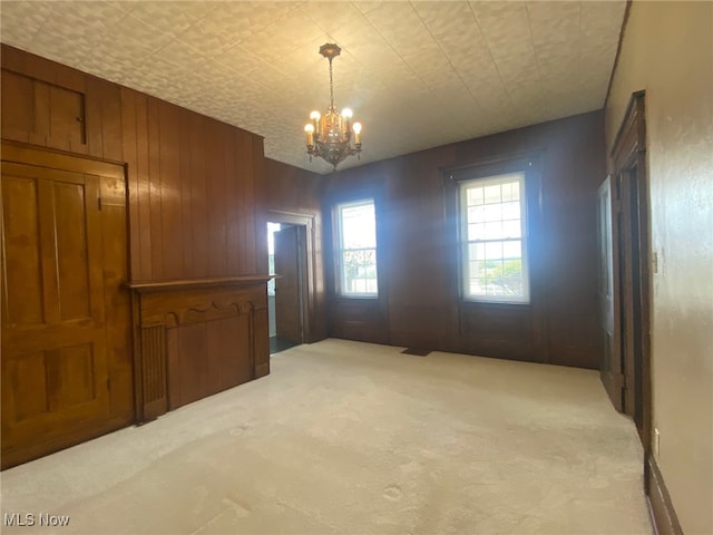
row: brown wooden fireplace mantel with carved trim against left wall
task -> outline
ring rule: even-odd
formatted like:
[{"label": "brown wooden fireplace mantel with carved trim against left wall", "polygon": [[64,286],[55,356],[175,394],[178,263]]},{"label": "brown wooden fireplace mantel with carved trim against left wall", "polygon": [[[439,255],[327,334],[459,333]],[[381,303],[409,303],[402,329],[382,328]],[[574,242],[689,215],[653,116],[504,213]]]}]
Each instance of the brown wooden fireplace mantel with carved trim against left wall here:
[{"label": "brown wooden fireplace mantel with carved trim against left wall", "polygon": [[272,275],[134,281],[137,421],[270,373]]}]

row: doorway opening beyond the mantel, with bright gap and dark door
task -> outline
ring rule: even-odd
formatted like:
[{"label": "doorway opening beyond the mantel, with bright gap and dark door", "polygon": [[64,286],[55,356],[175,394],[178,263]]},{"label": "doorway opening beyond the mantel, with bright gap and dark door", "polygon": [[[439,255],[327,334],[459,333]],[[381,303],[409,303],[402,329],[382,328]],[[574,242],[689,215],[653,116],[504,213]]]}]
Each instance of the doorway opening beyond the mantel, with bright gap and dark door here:
[{"label": "doorway opening beyond the mantel, with bright gap and dark door", "polygon": [[270,354],[305,340],[306,226],[267,222]]}]

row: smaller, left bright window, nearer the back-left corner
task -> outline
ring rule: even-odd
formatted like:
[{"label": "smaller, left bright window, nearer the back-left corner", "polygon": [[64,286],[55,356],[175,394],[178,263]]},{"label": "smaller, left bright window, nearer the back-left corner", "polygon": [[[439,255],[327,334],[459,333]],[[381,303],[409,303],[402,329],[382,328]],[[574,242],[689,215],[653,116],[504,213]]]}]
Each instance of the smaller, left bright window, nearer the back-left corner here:
[{"label": "smaller, left bright window, nearer the back-left corner", "polygon": [[372,198],[335,207],[335,261],[338,293],[375,298],[377,217]]}]

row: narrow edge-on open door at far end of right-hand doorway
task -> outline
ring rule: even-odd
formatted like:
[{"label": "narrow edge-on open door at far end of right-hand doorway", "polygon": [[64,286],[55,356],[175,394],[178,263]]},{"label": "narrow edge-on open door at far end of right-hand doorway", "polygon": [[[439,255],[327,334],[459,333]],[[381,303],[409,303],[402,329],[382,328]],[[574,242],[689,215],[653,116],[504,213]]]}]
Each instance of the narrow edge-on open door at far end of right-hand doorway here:
[{"label": "narrow edge-on open door at far end of right-hand doorway", "polygon": [[618,281],[614,276],[614,227],[613,227],[613,196],[612,178],[609,176],[602,183],[598,189],[597,223],[598,223],[598,245],[599,245],[599,328],[604,354],[602,358],[600,373],[602,382],[606,388],[612,403],[617,410],[623,410],[623,373],[622,353],[618,346],[618,303],[616,292]]}]

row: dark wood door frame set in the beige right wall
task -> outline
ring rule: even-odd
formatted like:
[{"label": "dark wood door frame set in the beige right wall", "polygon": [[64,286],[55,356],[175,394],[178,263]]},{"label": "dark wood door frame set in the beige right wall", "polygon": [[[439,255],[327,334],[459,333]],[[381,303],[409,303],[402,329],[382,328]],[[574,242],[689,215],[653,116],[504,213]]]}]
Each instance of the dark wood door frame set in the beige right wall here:
[{"label": "dark wood door frame set in the beige right wall", "polygon": [[[615,309],[614,348],[624,377],[623,411],[636,424],[645,456],[651,453],[651,239],[644,91],[633,94],[614,143],[613,260]],[[615,406],[617,403],[615,402]]]}]

